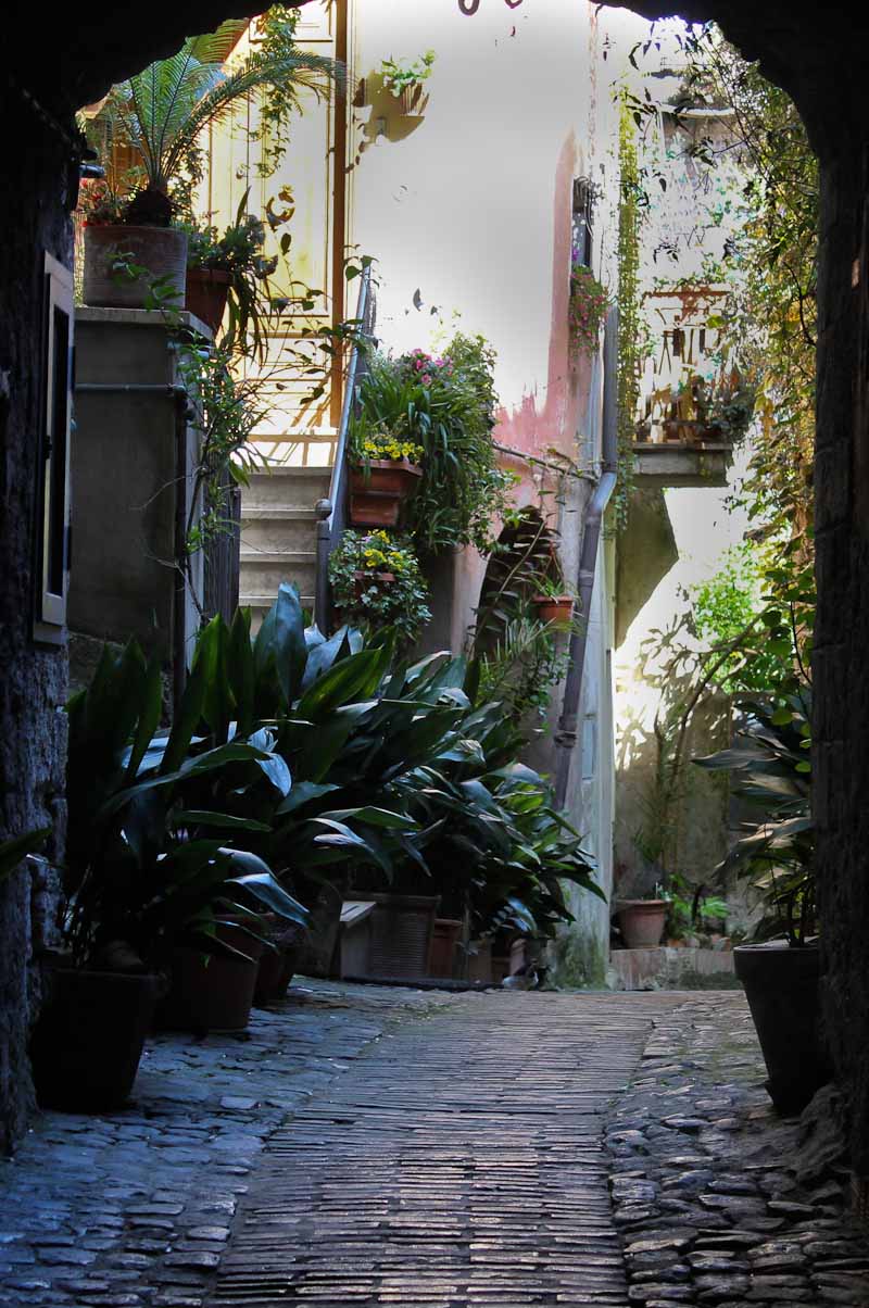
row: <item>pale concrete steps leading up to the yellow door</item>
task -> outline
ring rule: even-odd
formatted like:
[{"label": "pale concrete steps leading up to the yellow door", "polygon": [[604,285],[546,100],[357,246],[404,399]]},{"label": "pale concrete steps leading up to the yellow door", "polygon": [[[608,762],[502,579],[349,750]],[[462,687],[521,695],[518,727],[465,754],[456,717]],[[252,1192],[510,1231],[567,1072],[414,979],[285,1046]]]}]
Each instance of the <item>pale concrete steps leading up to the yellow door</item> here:
[{"label": "pale concrete steps leading up to the yellow door", "polygon": [[254,472],[241,500],[239,604],[257,630],[281,581],[296,582],[305,608],[314,607],[317,515],[328,496],[331,468],[276,467]]}]

